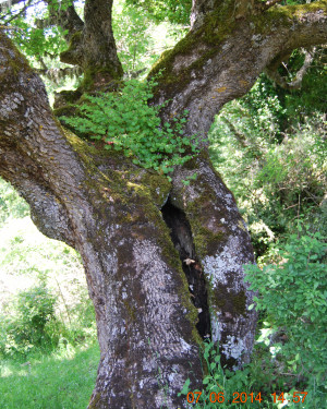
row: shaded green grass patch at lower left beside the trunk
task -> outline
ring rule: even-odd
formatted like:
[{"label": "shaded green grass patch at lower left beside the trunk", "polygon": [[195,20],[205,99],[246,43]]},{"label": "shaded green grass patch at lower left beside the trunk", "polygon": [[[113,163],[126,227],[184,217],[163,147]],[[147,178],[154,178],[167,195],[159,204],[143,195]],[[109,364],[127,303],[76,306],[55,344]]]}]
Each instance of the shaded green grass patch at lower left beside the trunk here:
[{"label": "shaded green grass patch at lower left beside the trunk", "polygon": [[1,409],[83,409],[88,405],[99,362],[97,345],[28,363],[0,362]]}]

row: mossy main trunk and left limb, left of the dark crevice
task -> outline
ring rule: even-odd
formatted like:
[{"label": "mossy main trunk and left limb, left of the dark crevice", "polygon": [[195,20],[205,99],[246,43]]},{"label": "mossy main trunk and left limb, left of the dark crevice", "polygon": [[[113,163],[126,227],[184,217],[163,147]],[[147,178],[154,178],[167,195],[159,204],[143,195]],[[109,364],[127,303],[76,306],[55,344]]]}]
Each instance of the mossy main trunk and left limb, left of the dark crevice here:
[{"label": "mossy main trunk and left limb, left of the dark crevice", "polygon": [[201,364],[197,311],[159,209],[170,185],[64,133],[3,36],[0,50],[0,175],[38,228],[83,257],[101,350],[89,407],[175,408],[187,377],[199,386]]}]

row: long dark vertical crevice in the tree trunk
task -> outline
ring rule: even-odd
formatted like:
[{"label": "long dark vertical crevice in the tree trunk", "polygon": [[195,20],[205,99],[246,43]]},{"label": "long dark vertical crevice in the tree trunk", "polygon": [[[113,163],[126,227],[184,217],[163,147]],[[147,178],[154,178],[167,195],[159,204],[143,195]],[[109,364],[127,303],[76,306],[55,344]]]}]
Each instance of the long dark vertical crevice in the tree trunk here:
[{"label": "long dark vertical crevice in the tree trunk", "polygon": [[206,280],[196,257],[192,230],[186,215],[168,200],[161,208],[162,217],[170,229],[171,240],[178,250],[183,270],[187,278],[193,304],[198,310],[196,328],[203,339],[211,338],[210,314]]}]

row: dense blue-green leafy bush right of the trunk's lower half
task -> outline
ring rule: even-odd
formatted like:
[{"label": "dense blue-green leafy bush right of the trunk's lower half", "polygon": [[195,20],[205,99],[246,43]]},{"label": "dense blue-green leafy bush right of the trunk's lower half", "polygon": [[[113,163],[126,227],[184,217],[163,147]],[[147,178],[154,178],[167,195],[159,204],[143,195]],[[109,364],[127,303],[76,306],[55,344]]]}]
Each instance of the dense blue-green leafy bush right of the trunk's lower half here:
[{"label": "dense blue-green leafy bush right of the trunk's lower half", "polygon": [[270,334],[277,334],[275,354],[284,358],[287,370],[298,378],[307,380],[306,408],[320,407],[319,394],[326,381],[326,250],[318,232],[301,238],[291,236],[279,252],[279,265],[267,265],[263,270],[255,265],[246,266],[251,289],[258,291],[254,299],[256,309],[265,311]]}]

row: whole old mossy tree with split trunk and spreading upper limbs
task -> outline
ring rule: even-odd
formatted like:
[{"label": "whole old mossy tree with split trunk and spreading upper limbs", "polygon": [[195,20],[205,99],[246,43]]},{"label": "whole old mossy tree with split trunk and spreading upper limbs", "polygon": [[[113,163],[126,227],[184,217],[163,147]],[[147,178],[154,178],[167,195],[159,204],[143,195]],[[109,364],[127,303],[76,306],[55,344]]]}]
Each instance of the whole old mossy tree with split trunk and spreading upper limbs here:
[{"label": "whole old mossy tree with split trunk and spreading upper limbs", "polygon": [[[112,0],[86,0],[83,20],[72,2],[46,3],[44,24],[61,25],[69,44],[61,60],[84,72],[73,99],[112,91],[122,77]],[[149,104],[168,101],[162,123],[187,109],[184,134],[202,146],[171,182],[62,128],[41,80],[1,28],[0,175],[46,236],[82,255],[101,351],[89,408],[183,407],[184,381],[201,386],[206,336],[219,340],[228,366],[250,359],[256,314],[247,311],[253,293],[242,265],[253,262],[252,246],[206,136],[219,109],[261,72],[276,71],[298,47],[326,41],[326,1],[276,3],[194,0],[190,32],[153,68],[149,76],[161,76]]]}]

